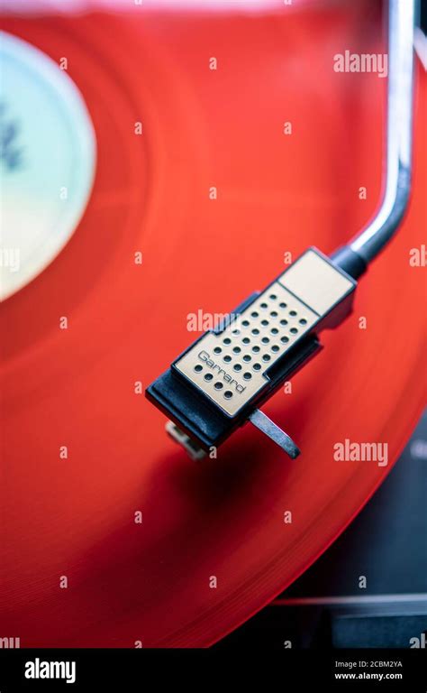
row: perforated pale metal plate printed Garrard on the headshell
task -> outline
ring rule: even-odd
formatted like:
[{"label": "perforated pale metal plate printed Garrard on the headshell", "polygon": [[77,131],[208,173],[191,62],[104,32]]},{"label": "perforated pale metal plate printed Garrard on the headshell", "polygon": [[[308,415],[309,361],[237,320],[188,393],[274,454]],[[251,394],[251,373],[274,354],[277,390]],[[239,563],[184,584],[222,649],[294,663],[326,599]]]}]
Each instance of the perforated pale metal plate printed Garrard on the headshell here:
[{"label": "perforated pale metal plate printed Garrard on the headshell", "polygon": [[234,416],[268,382],[268,368],[318,320],[276,282],[220,335],[207,333],[175,366]]}]

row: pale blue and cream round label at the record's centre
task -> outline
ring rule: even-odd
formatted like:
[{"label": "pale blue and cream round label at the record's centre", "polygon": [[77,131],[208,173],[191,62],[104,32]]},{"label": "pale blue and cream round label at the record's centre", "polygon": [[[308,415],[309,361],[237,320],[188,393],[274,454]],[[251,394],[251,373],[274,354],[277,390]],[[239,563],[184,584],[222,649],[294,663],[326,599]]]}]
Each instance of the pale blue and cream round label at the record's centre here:
[{"label": "pale blue and cream round label at the record's centre", "polygon": [[92,188],[95,134],[83,98],[44,53],[2,32],[0,298],[36,277],[74,233]]}]

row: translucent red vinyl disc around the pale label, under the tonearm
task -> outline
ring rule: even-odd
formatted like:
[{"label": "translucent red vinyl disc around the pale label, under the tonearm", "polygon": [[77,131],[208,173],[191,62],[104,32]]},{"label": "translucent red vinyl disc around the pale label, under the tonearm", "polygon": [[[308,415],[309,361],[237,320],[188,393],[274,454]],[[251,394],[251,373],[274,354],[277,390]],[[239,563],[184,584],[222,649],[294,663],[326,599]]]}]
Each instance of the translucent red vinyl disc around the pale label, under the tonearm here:
[{"label": "translucent red vinyl disc around the pale label, under the tonearm", "polygon": [[[425,404],[425,268],[409,261],[425,243],[419,64],[404,224],[350,319],[265,406],[301,456],[247,425],[195,463],[143,395],[197,336],[190,313],[232,310],[286,254],[329,254],[374,214],[386,80],[336,74],[332,55],[384,50],[382,25],[370,1],[5,17],[67,58],[97,163],[74,235],[2,306],[0,635],[209,645],[308,568],[386,477]],[[388,464],[334,460],[346,439],[386,442]]]}]

